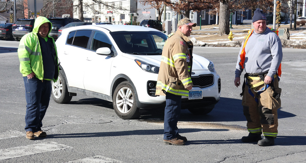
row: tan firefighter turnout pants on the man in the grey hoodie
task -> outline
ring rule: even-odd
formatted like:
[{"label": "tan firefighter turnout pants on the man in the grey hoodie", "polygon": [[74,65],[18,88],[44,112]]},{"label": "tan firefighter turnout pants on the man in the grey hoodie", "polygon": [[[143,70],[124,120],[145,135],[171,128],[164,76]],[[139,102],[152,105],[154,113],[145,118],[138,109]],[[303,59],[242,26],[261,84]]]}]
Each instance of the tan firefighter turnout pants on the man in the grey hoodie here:
[{"label": "tan firefighter turnout pants on the man in the grey hoodie", "polygon": [[[249,85],[254,85],[262,80],[248,80]],[[265,136],[277,136],[277,109],[281,107],[280,97],[276,98],[275,95],[281,93],[281,88],[278,87],[278,78],[275,77],[274,81],[275,92],[268,87],[261,93],[256,93],[253,89],[248,89],[248,85],[245,86],[242,106],[243,114],[247,119],[247,128],[251,133],[258,133]],[[256,91],[261,90],[264,84],[256,87]],[[252,93],[249,93],[249,90]],[[259,95],[258,95],[259,94]],[[258,98],[258,103],[256,102]]]}]

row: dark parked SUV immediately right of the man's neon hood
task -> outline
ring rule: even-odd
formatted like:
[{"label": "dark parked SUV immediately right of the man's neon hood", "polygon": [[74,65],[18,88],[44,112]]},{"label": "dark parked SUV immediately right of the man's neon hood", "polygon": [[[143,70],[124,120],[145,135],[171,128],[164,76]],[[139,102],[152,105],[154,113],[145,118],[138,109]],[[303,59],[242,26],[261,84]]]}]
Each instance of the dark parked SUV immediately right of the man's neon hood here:
[{"label": "dark parked SUV immediately right of the man's neon hood", "polygon": [[47,18],[52,23],[52,30],[49,36],[53,37],[54,40],[58,39],[58,29],[64,27],[68,23],[81,22],[81,20],[72,17],[50,17]]}]

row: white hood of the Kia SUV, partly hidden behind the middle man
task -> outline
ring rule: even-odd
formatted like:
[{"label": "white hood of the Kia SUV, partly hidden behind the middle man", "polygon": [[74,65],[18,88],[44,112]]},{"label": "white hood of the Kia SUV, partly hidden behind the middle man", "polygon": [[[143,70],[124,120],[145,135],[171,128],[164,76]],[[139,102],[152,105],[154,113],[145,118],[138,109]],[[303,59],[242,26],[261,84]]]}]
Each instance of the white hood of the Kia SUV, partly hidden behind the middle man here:
[{"label": "white hood of the Kia SUV, partly hidden behind the middle man", "polygon": [[[133,54],[125,54],[123,53],[124,57],[130,58],[130,59],[140,59],[141,61],[147,62],[151,65],[160,66],[160,61],[162,59],[162,55],[133,55]],[[209,60],[206,58],[192,54],[192,70],[208,70],[208,65],[210,63]]]}]

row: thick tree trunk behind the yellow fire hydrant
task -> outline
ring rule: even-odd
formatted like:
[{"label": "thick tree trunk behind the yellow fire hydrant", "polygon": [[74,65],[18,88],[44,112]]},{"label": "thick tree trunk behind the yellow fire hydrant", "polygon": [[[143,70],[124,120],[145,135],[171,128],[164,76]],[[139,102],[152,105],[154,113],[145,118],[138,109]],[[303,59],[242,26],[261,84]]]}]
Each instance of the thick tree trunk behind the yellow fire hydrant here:
[{"label": "thick tree trunk behind the yellow fire hydrant", "polygon": [[220,0],[219,36],[230,34],[230,9],[228,0]]}]

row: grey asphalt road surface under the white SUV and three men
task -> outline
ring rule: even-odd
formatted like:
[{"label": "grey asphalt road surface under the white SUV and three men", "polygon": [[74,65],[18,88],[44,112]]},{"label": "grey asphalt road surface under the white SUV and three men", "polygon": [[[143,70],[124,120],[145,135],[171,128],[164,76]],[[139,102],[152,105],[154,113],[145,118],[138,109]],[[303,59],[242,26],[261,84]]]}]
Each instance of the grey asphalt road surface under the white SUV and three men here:
[{"label": "grey asphalt road surface under the white SUV and three men", "polygon": [[43,120],[47,137],[26,139],[17,47],[16,41],[0,41],[0,162],[306,162],[305,49],[283,49],[278,138],[261,147],[240,140],[248,132],[241,87],[233,84],[239,48],[194,48],[214,62],[222,95],[207,115],[182,110],[178,128],[188,142],[173,146],[162,143],[161,109],[122,120],[110,102],[82,95],[65,105],[51,98]]}]

